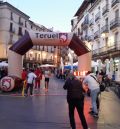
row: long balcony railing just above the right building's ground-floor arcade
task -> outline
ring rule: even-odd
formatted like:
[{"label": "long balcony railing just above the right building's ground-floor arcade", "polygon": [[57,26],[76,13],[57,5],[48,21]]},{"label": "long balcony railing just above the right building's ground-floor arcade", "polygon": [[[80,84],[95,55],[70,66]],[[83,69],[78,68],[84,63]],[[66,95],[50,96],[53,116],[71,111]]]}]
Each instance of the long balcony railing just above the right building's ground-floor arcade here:
[{"label": "long balcony railing just above the right building's ground-floor arcade", "polygon": [[92,51],[92,55],[104,55],[104,54],[109,54],[109,53],[113,53],[113,52],[117,52],[120,51],[120,41],[119,42],[115,42],[114,45],[112,46],[104,46],[102,48],[99,49],[95,49]]}]

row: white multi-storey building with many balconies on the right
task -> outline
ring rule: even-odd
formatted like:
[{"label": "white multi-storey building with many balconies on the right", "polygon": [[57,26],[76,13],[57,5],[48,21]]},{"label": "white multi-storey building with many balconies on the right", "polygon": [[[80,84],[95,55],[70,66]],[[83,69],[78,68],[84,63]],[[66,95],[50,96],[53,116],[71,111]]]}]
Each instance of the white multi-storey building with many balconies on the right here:
[{"label": "white multi-storey building with many balconies on the right", "polygon": [[84,0],[71,25],[91,49],[95,70],[103,69],[120,81],[120,1]]}]

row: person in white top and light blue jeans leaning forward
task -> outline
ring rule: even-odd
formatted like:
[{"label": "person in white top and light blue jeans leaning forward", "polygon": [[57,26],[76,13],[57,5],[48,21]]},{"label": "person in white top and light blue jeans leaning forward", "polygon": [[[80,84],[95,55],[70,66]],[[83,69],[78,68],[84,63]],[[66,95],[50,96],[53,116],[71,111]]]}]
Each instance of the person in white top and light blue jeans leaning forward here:
[{"label": "person in white top and light blue jeans leaning forward", "polygon": [[[98,95],[100,93],[99,83],[96,81],[97,78],[94,73],[88,71],[84,80],[83,85],[87,86],[90,90],[92,110],[89,112],[94,117],[98,118],[98,108],[97,104],[99,103]],[[98,105],[99,106],[99,105]]]}]

